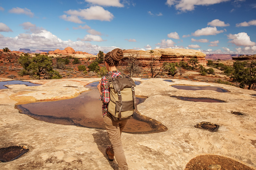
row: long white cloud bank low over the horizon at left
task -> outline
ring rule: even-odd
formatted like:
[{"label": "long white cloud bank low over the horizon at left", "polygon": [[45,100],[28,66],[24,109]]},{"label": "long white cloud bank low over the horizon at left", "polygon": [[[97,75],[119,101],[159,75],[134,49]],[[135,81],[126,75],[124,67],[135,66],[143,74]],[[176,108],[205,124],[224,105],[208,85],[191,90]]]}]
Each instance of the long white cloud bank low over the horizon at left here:
[{"label": "long white cloud bank low over the horizon at left", "polygon": [[41,28],[40,33],[37,31],[35,33],[20,33],[14,38],[5,37],[0,34],[0,42],[3,47],[8,47],[11,50],[19,50],[20,48],[30,48],[31,50],[55,50],[57,48],[64,49],[66,47],[72,47],[76,51],[84,51],[94,54],[99,51],[108,52],[115,48],[119,48],[98,46],[84,41],[63,41],[51,32],[46,31],[44,28]]}]

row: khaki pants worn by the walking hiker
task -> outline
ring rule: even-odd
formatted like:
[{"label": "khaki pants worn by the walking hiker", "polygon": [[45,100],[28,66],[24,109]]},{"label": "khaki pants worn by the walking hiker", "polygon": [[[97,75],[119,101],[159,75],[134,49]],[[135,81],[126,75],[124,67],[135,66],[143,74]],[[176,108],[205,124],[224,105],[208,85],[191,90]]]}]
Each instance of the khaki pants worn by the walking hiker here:
[{"label": "khaki pants worn by the walking hiker", "polygon": [[127,120],[119,120],[114,121],[112,117],[106,114],[103,117],[103,121],[105,123],[106,130],[108,132],[109,140],[112,144],[111,150],[113,148],[115,153],[116,162],[118,163],[119,170],[127,170],[128,165],[126,163],[122,141],[121,141],[121,133],[128,122]]}]

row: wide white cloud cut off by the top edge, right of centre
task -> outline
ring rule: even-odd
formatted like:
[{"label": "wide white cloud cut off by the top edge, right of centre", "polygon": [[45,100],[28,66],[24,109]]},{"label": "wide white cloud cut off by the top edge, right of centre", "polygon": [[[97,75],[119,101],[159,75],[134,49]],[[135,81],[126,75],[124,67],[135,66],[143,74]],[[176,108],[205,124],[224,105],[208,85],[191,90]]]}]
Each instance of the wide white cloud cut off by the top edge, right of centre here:
[{"label": "wide white cloud cut off by the top edge, right of centre", "polygon": [[186,12],[193,11],[195,9],[195,5],[212,5],[226,1],[229,0],[167,0],[166,4],[168,6],[175,5],[176,10]]}]

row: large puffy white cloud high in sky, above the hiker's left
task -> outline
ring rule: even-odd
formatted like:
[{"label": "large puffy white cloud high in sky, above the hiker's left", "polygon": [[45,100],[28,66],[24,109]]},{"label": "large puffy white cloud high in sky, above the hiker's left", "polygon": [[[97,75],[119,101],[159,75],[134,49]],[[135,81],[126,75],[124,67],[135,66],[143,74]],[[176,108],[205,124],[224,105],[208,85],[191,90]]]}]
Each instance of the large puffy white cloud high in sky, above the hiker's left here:
[{"label": "large puffy white cloud high in sky, above the hiker's left", "polygon": [[83,23],[81,19],[87,20],[100,20],[100,21],[110,21],[114,18],[114,15],[107,10],[104,10],[101,6],[91,6],[87,9],[80,9],[80,10],[68,10],[64,11],[70,16],[62,15],[60,18],[74,22],[74,23]]}]

